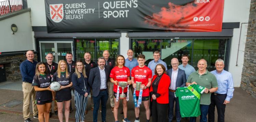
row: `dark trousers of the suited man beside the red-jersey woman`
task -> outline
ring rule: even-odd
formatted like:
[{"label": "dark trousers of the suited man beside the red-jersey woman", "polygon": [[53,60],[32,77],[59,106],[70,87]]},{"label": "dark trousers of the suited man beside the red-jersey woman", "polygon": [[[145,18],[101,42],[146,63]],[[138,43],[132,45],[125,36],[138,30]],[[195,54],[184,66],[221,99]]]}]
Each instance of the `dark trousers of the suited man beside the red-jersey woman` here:
[{"label": "dark trousers of the suited man beside the red-jersey woman", "polygon": [[100,91],[97,97],[93,97],[93,122],[98,120],[98,110],[101,102],[101,121],[106,121],[106,105],[107,105],[108,94],[107,91]]}]

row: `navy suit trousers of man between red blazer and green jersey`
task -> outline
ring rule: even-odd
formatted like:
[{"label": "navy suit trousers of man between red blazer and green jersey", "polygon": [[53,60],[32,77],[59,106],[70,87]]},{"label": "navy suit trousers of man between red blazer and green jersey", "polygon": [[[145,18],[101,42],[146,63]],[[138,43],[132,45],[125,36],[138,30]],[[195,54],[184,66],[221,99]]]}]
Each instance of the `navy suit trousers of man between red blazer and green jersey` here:
[{"label": "navy suit trousers of man between red blazer and green jersey", "polygon": [[172,121],[174,102],[175,102],[176,121],[177,121],[177,122],[180,122],[181,117],[180,117],[179,99],[175,97],[174,92],[169,91],[168,122],[171,122],[171,121]]}]

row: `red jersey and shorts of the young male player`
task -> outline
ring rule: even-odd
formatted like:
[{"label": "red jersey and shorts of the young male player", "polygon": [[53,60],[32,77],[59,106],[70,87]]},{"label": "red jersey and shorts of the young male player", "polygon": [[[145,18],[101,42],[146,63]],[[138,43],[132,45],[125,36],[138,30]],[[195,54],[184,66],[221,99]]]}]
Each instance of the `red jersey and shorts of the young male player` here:
[{"label": "red jersey and shorts of the young male player", "polygon": [[[149,78],[152,77],[152,71],[147,66],[142,68],[136,66],[131,70],[131,76],[134,77],[134,83],[142,82],[142,84],[147,85],[149,83]],[[140,91],[136,91],[136,96],[139,96],[139,93]],[[142,97],[146,96],[149,96],[149,88],[143,89]]]}]

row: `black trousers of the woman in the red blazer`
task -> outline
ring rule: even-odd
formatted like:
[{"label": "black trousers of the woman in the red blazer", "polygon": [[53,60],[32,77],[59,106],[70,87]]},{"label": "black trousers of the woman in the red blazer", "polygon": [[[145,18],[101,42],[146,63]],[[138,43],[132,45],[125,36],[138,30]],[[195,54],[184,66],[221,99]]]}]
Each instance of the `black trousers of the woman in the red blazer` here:
[{"label": "black trousers of the woman in the red blazer", "polygon": [[153,122],[167,122],[168,104],[159,104],[156,100],[152,101]]}]

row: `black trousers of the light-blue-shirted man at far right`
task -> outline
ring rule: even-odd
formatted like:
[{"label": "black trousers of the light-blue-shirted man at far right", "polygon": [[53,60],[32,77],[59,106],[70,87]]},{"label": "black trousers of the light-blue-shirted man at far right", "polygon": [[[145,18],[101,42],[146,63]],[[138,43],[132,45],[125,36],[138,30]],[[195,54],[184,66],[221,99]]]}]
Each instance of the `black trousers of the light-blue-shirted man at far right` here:
[{"label": "black trousers of the light-blue-shirted man at far right", "polygon": [[214,112],[215,112],[215,106],[217,108],[218,113],[218,122],[224,122],[225,121],[225,108],[226,105],[223,104],[225,99],[227,97],[227,94],[211,94],[211,104],[209,105],[209,111],[208,111],[208,121],[214,122]]}]

